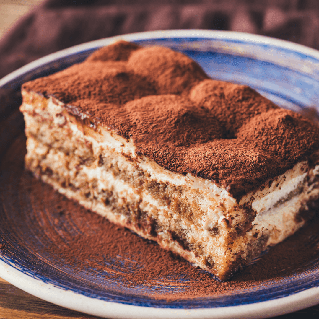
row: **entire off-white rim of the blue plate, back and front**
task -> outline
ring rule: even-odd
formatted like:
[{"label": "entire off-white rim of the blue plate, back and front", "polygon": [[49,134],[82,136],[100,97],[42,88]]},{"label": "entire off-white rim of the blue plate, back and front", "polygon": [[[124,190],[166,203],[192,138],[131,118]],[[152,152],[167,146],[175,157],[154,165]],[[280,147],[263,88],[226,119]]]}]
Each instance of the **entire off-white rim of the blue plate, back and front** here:
[{"label": "entire off-white rim of the blue plate, back and front", "polygon": [[[118,40],[142,41],[161,38],[207,38],[211,40],[244,41],[251,44],[263,44],[275,46],[280,49],[292,50],[301,55],[307,55],[319,61],[319,51],[289,41],[274,39],[266,36],[215,30],[164,30],[131,33],[115,37],[86,42],[71,48],[67,48],[48,56],[42,57],[25,66],[15,70],[0,79],[0,87],[10,83],[12,80],[24,75],[26,72],[44,66],[59,58],[71,56],[90,49],[99,48]],[[91,315],[112,316],[114,318],[241,318],[254,317],[266,318],[269,316],[282,315],[305,307],[313,306],[319,302],[319,287],[291,294],[286,297],[255,302],[239,306],[227,306],[220,308],[197,308],[197,309],[172,309],[172,308],[151,308],[143,306],[126,305],[121,302],[110,302],[95,298],[86,297],[73,291],[66,291],[49,283],[32,277],[17,269],[18,265],[10,265],[0,258],[0,276],[41,299],[53,302],[63,307],[82,311]],[[47,293],[49,292],[49,293]],[[83,302],[85,301],[85,302]],[[136,315],[138,314],[138,315]]]}]

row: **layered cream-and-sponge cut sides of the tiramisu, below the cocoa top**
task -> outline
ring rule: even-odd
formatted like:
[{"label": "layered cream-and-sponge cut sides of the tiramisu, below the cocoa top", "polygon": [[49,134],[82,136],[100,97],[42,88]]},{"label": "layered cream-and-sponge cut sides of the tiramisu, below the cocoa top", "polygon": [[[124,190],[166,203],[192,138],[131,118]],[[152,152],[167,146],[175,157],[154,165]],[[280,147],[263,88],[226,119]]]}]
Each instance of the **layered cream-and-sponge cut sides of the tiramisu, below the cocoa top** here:
[{"label": "layered cream-and-sponge cut sides of the tiramisu, below the cocoa top", "polygon": [[26,167],[86,208],[227,280],[293,234],[318,198],[318,154],[240,200],[216,183],[159,166],[132,139],[23,91]]}]

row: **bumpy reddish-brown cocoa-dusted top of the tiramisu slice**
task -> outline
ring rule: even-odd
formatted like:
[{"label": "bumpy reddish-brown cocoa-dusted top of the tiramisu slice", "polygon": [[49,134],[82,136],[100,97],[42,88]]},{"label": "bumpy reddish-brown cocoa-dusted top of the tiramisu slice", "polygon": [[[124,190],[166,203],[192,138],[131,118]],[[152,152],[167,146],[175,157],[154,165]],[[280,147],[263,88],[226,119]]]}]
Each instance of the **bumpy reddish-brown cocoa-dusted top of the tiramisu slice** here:
[{"label": "bumpy reddish-brown cocoa-dusted top of the tiramisu slice", "polygon": [[120,41],[23,85],[112,129],[167,170],[213,181],[240,200],[319,148],[319,128],[243,85],[208,78],[168,48]]}]

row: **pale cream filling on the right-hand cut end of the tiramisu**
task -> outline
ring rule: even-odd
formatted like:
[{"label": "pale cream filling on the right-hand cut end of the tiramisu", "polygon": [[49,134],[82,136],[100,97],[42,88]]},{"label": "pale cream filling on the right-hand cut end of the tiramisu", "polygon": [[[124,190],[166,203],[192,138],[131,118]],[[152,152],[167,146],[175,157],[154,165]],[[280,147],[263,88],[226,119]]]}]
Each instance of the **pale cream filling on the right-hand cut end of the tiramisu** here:
[{"label": "pale cream filling on the right-hand cut end of the tiramisu", "polygon": [[[255,231],[259,234],[268,233],[267,246],[283,241],[303,226],[304,221],[297,221],[296,214],[300,210],[308,209],[306,204],[310,198],[319,196],[319,189],[315,184],[308,185],[306,178],[309,173],[318,175],[319,165],[308,173],[303,173],[304,168],[305,163],[296,164],[273,181],[269,189],[255,194],[256,199],[251,203],[251,207],[256,211],[256,218],[252,223],[251,234]],[[275,190],[269,192],[274,187]]]}]

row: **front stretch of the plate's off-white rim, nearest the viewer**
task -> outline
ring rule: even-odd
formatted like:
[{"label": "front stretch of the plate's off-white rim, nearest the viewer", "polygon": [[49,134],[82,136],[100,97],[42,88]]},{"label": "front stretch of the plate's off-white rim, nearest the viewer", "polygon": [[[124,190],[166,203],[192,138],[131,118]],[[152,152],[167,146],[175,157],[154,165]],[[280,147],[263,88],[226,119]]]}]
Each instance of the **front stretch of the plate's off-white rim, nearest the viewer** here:
[{"label": "front stretch of the plate's off-white rim, nearest the viewer", "polygon": [[116,319],[262,319],[311,307],[319,302],[319,287],[274,300],[240,306],[197,309],[154,308],[90,298],[71,290],[44,283],[0,259],[0,276],[12,285],[38,298],[86,314]]}]

